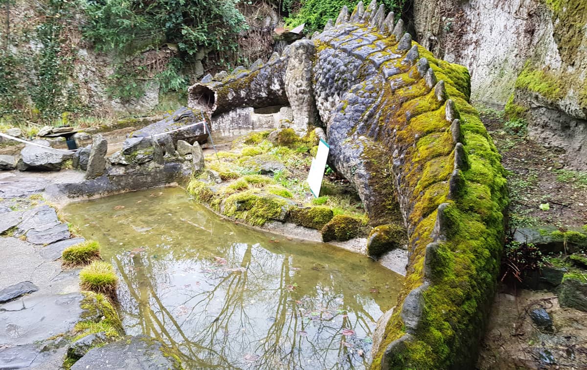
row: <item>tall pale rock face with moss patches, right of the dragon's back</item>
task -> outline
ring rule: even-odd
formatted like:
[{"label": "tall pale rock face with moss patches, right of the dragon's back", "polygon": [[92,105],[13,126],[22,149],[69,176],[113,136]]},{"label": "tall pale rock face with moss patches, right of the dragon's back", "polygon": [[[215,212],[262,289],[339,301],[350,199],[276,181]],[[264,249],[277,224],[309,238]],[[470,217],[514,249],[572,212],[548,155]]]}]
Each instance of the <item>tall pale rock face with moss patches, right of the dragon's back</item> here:
[{"label": "tall pale rock face with moss patches, right of the dragon's back", "polygon": [[417,39],[471,71],[471,100],[587,168],[587,1],[413,0]]}]

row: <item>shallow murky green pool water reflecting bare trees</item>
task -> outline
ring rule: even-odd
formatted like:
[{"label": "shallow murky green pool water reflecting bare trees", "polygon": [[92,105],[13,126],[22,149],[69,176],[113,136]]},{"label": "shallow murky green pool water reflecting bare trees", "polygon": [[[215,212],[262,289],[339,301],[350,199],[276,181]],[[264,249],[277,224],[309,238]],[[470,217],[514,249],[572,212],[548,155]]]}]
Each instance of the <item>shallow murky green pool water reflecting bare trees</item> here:
[{"label": "shallow murky green pool water reflecting bare trees", "polygon": [[329,245],[222,220],[178,188],[65,208],[120,276],[128,334],[174,345],[189,369],[351,369],[402,277]]}]

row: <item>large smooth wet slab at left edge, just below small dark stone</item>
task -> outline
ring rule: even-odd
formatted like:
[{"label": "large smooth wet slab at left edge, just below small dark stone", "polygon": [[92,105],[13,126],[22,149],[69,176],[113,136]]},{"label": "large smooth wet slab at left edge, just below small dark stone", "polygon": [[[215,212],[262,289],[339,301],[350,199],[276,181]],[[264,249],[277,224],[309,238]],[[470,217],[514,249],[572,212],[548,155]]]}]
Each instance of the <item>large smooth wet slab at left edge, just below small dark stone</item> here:
[{"label": "large smooth wet slab at left edge, just below small dark stone", "polygon": [[82,294],[39,293],[0,304],[0,345],[42,341],[71,330],[81,320]]}]

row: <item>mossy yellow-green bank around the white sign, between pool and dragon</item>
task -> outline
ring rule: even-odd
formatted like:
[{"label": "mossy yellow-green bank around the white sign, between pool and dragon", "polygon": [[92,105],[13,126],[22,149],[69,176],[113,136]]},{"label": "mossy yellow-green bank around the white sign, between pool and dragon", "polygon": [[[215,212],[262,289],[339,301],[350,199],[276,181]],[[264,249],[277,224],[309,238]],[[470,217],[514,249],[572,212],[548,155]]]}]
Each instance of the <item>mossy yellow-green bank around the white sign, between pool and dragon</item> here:
[{"label": "mossy yellow-green bank around the white sign, between pool and dragon", "polygon": [[269,134],[248,134],[227,150],[209,151],[205,171],[187,190],[214,211],[252,226],[279,220],[326,230],[333,218],[344,216],[352,222],[337,228],[338,233],[328,233],[325,241],[366,236],[368,219],[348,181],[326,168],[319,198],[309,189],[306,178],[318,138],[313,133],[298,137],[291,129]]}]

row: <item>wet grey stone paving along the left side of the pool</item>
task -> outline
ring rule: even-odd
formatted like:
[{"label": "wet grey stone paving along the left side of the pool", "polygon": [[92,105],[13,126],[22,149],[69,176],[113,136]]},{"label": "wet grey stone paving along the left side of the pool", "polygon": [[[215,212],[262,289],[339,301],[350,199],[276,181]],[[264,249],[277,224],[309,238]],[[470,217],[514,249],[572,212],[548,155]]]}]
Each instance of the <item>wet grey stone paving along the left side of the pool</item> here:
[{"label": "wet grey stone paving along the left side of the pool", "polygon": [[77,270],[57,261],[72,237],[41,195],[50,179],[0,177],[0,369],[58,369],[66,345],[52,338],[80,320]]}]

